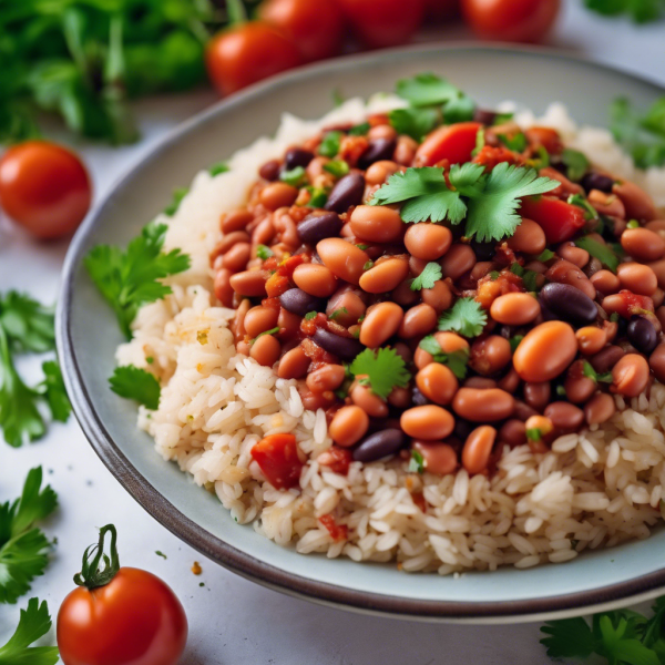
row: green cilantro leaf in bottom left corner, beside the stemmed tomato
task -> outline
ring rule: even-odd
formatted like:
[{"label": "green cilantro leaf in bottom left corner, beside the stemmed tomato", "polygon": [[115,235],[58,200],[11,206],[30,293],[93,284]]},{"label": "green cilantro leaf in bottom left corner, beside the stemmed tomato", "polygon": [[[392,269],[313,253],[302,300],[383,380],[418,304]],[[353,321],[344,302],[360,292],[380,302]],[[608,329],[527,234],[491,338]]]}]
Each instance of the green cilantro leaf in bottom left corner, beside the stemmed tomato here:
[{"label": "green cilantro leaf in bottom left corner, beside the stemmed tomato", "polygon": [[51,630],[47,601],[30,598],[21,610],[19,625],[4,646],[0,646],[0,665],[55,665],[57,646],[30,646]]}]

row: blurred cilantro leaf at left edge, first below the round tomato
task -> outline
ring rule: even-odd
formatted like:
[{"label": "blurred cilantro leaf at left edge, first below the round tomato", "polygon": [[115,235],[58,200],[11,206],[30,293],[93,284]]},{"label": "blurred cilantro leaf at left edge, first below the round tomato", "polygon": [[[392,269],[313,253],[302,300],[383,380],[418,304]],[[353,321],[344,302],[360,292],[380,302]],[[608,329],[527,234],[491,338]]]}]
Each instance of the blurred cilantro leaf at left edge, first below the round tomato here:
[{"label": "blurred cilantro leaf at left edge, first below the round tomato", "polygon": [[8,291],[0,298],[0,326],[7,332],[12,350],[41,354],[55,348],[52,307],[25,294]]}]

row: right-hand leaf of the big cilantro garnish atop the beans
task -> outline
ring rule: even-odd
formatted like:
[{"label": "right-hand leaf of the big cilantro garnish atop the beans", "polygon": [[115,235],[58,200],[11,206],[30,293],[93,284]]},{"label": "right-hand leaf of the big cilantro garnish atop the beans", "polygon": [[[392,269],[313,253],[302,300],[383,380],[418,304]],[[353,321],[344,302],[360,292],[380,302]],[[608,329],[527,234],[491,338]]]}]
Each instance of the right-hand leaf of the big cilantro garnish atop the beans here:
[{"label": "right-hand leaf of the big cilantro garnish atop the beans", "polygon": [[538,177],[533,168],[501,162],[487,178],[482,196],[470,198],[466,235],[479,243],[512,236],[522,221],[520,198],[551,192],[561,183]]}]

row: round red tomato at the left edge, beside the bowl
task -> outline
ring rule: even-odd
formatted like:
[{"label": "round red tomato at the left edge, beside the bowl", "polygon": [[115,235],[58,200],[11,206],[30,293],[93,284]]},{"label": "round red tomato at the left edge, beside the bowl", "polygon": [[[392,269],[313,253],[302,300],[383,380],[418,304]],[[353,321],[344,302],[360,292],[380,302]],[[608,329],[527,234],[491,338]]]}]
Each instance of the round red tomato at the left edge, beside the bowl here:
[{"label": "round red tomato at the left edge, beside the bowl", "polygon": [[88,171],[71,151],[47,141],[27,141],[0,158],[0,204],[38,238],[70,234],[92,198]]}]

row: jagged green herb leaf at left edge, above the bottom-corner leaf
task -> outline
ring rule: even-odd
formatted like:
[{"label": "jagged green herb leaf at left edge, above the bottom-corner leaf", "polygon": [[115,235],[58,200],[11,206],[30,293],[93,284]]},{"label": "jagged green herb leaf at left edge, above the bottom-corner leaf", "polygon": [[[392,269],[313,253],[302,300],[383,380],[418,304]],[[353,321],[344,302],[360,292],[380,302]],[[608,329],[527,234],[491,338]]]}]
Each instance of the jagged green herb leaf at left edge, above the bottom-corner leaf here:
[{"label": "jagged green herb leaf at left edge, above the bottom-corner leaf", "polygon": [[16,603],[49,562],[51,544],[34,523],[55,510],[58,497],[41,483],[41,467],[31,469],[21,498],[0,505],[0,603]]}]

